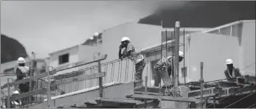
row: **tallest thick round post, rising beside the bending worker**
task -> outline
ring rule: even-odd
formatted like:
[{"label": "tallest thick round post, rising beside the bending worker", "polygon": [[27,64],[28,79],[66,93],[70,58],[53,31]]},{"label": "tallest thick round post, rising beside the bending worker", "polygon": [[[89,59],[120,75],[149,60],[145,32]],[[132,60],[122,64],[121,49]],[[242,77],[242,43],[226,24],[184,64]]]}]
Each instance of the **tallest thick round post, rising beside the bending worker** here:
[{"label": "tallest thick round post, rising beside the bending worker", "polygon": [[175,78],[175,84],[174,87],[179,87],[179,21],[176,21],[175,23],[175,43],[174,43],[174,78]]}]

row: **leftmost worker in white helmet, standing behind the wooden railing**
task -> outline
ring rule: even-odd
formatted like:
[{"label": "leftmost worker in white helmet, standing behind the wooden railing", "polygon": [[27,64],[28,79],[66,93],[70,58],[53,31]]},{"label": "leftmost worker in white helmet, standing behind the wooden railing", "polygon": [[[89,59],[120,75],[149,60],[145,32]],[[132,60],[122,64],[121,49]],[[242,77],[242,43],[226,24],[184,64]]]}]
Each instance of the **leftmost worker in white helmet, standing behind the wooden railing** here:
[{"label": "leftmost worker in white helmet, standing behind the wooden railing", "polygon": [[[18,68],[16,68],[16,74],[17,74],[17,80],[23,80],[29,77],[30,74],[30,68],[28,66],[25,66],[25,59],[23,57],[18,57]],[[29,82],[21,83],[18,85],[18,88],[20,89],[21,94],[26,93],[30,91]],[[25,104],[27,101],[26,98],[21,100],[22,105]]]}]

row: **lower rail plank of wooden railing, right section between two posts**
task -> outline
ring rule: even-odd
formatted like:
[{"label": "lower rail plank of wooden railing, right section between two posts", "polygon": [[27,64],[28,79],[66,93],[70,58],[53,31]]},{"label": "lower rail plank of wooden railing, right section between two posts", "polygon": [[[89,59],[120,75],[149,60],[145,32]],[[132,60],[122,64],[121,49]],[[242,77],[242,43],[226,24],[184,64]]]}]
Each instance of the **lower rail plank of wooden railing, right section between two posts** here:
[{"label": "lower rail plank of wooden railing, right section between two posts", "polygon": [[105,72],[101,72],[101,73],[95,73],[95,74],[88,74],[88,75],[84,75],[81,77],[72,77],[72,78],[67,78],[67,79],[63,79],[63,80],[55,80],[52,82],[52,84],[54,85],[59,85],[59,84],[66,84],[69,82],[77,82],[77,81],[82,81],[82,80],[91,80],[91,79],[95,79],[95,78],[99,78],[99,77],[105,77]]}]

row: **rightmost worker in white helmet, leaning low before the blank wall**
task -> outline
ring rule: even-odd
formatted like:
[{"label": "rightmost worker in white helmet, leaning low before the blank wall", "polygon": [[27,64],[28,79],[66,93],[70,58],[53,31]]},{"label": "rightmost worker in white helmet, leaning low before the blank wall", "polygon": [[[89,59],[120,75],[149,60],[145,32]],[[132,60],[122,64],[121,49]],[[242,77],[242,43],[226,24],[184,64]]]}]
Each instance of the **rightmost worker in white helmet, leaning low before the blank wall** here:
[{"label": "rightmost worker in white helmet, leaning low before the blank wall", "polygon": [[233,60],[227,59],[226,60],[226,69],[224,71],[226,75],[226,79],[228,81],[237,81],[237,83],[243,82],[243,77],[240,74],[240,69],[237,66],[233,65]]}]

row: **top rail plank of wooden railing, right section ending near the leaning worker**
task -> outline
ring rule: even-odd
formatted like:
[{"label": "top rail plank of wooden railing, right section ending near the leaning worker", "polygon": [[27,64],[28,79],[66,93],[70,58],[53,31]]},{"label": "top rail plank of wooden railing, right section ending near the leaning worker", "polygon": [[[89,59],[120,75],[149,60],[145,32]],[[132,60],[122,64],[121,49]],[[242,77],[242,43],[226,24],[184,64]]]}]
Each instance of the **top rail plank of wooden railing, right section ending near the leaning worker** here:
[{"label": "top rail plank of wooden railing, right section ending near the leaning worker", "polygon": [[101,54],[100,56],[95,57],[95,59],[91,62],[87,62],[86,60],[80,61],[80,62],[76,62],[76,63],[69,63],[67,65],[63,65],[63,66],[59,66],[57,68],[55,68],[57,71],[63,71],[66,69],[70,69],[70,68],[76,68],[78,66],[84,66],[90,63],[95,63],[101,60],[105,60],[107,58],[107,54]]}]

